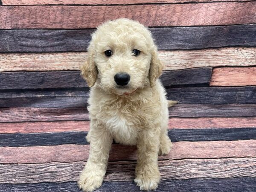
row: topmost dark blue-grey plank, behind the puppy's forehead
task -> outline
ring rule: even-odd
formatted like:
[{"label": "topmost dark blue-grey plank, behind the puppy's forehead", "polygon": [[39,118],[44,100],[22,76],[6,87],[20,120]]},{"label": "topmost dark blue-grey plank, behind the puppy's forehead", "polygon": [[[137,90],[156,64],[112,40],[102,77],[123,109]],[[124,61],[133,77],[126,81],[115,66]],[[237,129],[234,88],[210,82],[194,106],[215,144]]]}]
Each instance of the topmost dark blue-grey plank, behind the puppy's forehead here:
[{"label": "topmost dark blue-grey plank, behind the puppy's forehead", "polygon": [[[0,52],[86,51],[93,31],[2,30]],[[150,28],[150,31],[160,50],[256,46],[256,25]]]}]

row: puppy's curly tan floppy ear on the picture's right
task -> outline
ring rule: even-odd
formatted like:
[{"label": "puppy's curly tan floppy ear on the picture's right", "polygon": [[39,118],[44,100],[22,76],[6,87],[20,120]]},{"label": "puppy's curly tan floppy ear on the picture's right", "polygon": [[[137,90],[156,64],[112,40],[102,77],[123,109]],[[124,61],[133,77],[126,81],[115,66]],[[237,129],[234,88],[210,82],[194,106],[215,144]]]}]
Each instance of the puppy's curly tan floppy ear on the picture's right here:
[{"label": "puppy's curly tan floppy ear on the picture's right", "polygon": [[157,47],[154,46],[151,52],[151,62],[149,69],[149,82],[150,87],[153,88],[158,77],[162,74],[163,63],[158,58]]}]

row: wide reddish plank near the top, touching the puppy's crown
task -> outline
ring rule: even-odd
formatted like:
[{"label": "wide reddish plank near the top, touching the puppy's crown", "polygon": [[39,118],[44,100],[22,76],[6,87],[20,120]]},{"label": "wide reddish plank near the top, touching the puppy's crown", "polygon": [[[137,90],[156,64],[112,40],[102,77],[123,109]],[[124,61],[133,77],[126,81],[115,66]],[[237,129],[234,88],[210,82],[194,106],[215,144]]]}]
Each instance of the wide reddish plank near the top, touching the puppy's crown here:
[{"label": "wide reddish plank near the top, touching the puppy's crown", "polygon": [[255,12],[254,2],[134,6],[1,6],[0,17],[3,20],[0,28],[96,28],[105,20],[120,17],[138,20],[146,26],[251,24],[256,23]]}]

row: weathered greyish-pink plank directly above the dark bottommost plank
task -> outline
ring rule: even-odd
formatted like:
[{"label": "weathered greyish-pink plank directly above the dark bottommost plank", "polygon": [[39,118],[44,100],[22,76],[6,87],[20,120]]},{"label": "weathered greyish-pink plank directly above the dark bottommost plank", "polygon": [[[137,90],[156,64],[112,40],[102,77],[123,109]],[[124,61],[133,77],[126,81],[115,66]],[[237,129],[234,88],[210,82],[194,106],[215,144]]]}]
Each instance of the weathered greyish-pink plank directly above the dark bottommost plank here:
[{"label": "weathered greyish-pink plank directly above the dark bottommost plank", "polygon": [[[105,181],[132,181],[136,162],[110,162]],[[255,177],[256,158],[184,159],[158,162],[161,179]],[[0,183],[78,180],[84,162],[1,164]]]}]

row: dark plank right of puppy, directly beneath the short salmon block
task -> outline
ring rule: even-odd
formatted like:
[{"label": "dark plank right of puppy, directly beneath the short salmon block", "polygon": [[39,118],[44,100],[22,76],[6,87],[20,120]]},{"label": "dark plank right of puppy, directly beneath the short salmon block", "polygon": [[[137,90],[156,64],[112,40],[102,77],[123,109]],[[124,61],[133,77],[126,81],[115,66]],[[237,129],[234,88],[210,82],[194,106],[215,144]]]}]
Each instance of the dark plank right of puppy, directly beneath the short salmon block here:
[{"label": "dark plank right of puppy, directly beneath the short salmon block", "polygon": [[179,104],[256,104],[256,87],[185,87],[167,89]]}]

